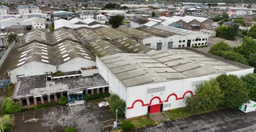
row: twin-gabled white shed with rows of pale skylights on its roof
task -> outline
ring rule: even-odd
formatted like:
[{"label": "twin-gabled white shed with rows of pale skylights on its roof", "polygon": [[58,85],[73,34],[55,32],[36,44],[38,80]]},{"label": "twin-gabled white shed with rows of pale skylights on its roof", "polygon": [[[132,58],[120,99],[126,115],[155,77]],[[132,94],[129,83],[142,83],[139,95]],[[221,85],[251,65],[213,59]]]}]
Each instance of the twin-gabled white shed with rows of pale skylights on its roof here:
[{"label": "twin-gabled white shed with rows of pale skylights on its roof", "polygon": [[95,57],[76,35],[63,28],[52,33],[35,29],[26,33],[22,41],[8,72],[12,83],[18,77],[80,71],[81,67],[96,65]]}]

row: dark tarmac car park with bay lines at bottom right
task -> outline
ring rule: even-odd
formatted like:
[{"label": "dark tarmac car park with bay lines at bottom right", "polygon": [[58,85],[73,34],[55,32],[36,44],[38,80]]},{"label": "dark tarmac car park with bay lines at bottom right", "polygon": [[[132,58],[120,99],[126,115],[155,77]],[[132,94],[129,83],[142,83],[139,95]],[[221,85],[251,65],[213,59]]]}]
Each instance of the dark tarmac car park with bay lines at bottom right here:
[{"label": "dark tarmac car park with bay lines at bottom right", "polygon": [[255,132],[256,112],[222,109],[178,120],[168,120],[134,132]]}]

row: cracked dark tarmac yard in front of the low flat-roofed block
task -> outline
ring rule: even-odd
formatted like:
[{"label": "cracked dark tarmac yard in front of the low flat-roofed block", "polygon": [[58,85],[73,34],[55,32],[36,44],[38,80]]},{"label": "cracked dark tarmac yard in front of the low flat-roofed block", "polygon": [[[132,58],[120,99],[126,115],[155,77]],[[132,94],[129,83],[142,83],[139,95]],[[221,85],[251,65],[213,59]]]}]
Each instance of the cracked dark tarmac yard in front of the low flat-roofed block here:
[{"label": "cracked dark tarmac yard in front of the low flat-roofed block", "polygon": [[14,117],[12,132],[64,132],[66,126],[77,132],[100,132],[105,121],[115,118],[109,106],[99,108],[90,103],[31,110]]}]

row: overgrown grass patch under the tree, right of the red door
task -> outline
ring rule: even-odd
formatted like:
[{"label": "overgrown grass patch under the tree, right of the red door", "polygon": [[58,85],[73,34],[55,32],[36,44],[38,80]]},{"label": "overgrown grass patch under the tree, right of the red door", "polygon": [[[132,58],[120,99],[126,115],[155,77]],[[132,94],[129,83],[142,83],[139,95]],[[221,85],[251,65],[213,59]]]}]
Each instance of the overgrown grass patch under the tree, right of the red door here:
[{"label": "overgrown grass patch under the tree, right of the red door", "polygon": [[168,114],[171,116],[170,117],[171,120],[176,120],[179,118],[186,118],[193,114],[199,114],[202,112],[206,112],[206,110],[197,110],[197,111],[191,112],[191,109],[189,109],[187,107],[182,107],[182,108],[167,110],[166,112],[168,112]]}]

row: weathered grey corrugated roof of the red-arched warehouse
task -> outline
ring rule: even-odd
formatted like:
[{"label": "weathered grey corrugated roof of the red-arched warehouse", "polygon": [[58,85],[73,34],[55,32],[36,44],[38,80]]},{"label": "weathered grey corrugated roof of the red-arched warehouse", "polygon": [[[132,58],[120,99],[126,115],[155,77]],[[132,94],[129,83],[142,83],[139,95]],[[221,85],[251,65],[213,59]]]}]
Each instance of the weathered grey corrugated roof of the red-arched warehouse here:
[{"label": "weathered grey corrugated roof of the red-arched warehouse", "polygon": [[145,54],[120,53],[100,60],[126,87],[237,71],[243,69],[186,49]]}]

